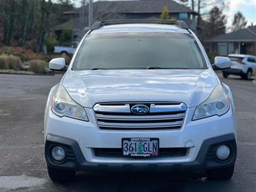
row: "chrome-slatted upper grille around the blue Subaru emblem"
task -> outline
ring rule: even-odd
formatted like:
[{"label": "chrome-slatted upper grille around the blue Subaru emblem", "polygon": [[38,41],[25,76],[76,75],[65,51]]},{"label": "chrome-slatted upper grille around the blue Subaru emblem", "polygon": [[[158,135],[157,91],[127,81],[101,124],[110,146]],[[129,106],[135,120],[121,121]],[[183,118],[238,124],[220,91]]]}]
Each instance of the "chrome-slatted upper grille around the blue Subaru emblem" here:
[{"label": "chrome-slatted upper grille around the blue Subaru emblem", "polygon": [[[148,113],[131,112],[132,106],[140,104],[148,106]],[[99,129],[120,131],[180,129],[186,109],[177,102],[102,103],[93,107]]]}]

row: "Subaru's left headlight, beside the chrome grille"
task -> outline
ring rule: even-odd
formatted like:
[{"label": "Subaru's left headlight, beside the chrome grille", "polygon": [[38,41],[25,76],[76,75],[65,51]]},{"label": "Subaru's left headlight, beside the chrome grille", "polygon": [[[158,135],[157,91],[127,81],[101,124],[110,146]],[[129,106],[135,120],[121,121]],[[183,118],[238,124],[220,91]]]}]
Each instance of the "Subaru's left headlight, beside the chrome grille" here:
[{"label": "Subaru's left headlight, beside the chrome grille", "polygon": [[58,116],[69,116],[79,120],[88,121],[84,108],[77,104],[65,90],[63,86],[59,86],[51,100],[52,112]]}]

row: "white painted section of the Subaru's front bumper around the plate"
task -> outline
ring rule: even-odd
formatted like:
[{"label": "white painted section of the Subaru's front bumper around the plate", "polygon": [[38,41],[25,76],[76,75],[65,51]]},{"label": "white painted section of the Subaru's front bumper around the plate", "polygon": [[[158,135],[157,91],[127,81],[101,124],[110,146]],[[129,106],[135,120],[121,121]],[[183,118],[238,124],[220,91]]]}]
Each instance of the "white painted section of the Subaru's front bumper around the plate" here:
[{"label": "white painted section of the Subaru's front bumper around the plate", "polygon": [[[164,131],[103,131],[100,130],[93,109],[86,108],[89,122],[56,116],[51,109],[45,114],[45,141],[49,134],[76,141],[86,162],[91,164],[173,164],[195,161],[202,143],[225,134],[236,135],[233,107],[222,116],[191,121],[195,108],[188,108],[184,124],[179,130]],[[188,148],[186,156],[134,159],[95,156],[94,148],[122,148],[122,138],[159,138],[160,148]]]}]

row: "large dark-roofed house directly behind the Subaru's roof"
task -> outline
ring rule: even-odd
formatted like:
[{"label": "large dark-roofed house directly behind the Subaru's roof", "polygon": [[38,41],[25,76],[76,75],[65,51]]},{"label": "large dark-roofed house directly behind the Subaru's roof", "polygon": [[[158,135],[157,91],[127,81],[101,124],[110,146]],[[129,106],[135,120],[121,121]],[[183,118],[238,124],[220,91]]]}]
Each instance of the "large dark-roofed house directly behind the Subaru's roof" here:
[{"label": "large dark-roofed house directly behind the Subaru's roof", "polygon": [[[184,20],[189,28],[196,31],[198,13],[172,0],[96,1],[93,3],[93,20],[159,19],[164,6],[169,10],[170,19]],[[72,29],[73,40],[79,41],[88,31],[88,5],[64,14],[70,15],[71,19],[56,26],[54,31],[60,33],[61,30]]]}]

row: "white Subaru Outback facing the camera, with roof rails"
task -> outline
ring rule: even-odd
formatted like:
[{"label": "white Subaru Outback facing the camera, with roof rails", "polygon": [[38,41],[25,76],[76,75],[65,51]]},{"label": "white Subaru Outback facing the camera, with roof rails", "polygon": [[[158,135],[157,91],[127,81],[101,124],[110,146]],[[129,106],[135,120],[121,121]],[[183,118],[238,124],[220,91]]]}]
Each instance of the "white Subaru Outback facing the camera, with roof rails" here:
[{"label": "white Subaru Outback facing the camera, with roof rails", "polygon": [[[154,24],[152,24],[154,22]],[[65,59],[50,61],[64,70]],[[95,22],[45,108],[49,177],[76,171],[202,172],[230,179],[236,118],[230,88],[185,22]]]}]

